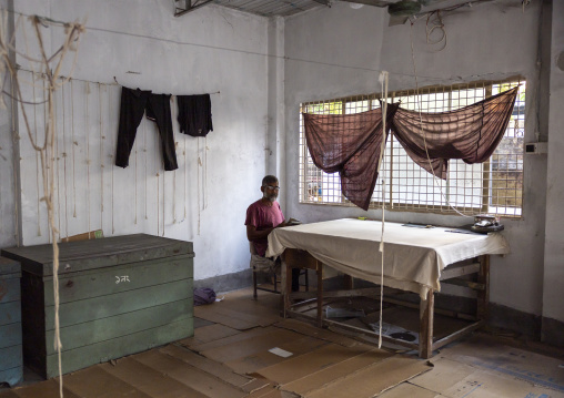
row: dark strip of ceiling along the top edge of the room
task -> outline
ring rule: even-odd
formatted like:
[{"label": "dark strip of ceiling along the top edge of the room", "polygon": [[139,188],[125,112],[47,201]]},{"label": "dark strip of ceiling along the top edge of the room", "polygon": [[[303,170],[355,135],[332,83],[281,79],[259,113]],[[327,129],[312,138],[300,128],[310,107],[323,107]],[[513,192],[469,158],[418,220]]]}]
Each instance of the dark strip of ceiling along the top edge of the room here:
[{"label": "dark strip of ceiling along the top edge of the room", "polygon": [[[406,20],[409,16],[432,12],[437,9],[457,9],[480,2],[496,0],[174,0],[175,17],[192,12],[207,4],[218,4],[262,17],[289,17],[311,9],[331,7],[335,1],[349,2],[351,7],[387,8],[392,17]],[[512,0],[521,3],[531,0]]]}]

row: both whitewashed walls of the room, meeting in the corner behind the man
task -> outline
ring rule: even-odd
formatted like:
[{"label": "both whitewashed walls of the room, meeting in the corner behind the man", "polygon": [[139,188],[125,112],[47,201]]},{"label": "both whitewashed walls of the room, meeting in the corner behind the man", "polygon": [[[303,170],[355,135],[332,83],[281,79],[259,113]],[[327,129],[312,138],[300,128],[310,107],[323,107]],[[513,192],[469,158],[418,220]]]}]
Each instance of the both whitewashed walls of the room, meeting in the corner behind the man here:
[{"label": "both whitewashed walls of the room, meeting in the corner behind the man", "polygon": [[[6,7],[6,0],[1,4]],[[157,0],[30,0],[16,7],[23,14],[61,21],[88,17],[73,74],[77,80],[58,94],[56,220],[61,235],[102,228],[105,236],[144,232],[193,241],[197,279],[248,269],[244,211],[259,197],[266,172],[281,178],[280,201],[286,217],[313,222],[366,215],[357,208],[298,203],[298,106],[304,101],[379,92],[381,70],[390,72],[391,90],[413,89],[410,33],[420,85],[524,75],[527,140],[534,140],[537,104],[547,98],[537,90],[543,82],[536,63],[537,2],[524,13],[521,7],[477,4],[445,17],[449,45],[441,52],[425,44],[424,21],[417,21],[413,32],[409,24],[389,28],[385,10],[352,9],[341,2],[272,21],[214,6],[173,18],[172,3]],[[562,7],[555,2],[552,14],[550,122],[538,121],[542,129],[550,125],[547,132],[541,132],[551,141],[548,171],[546,157],[525,160],[524,216],[504,221],[512,254],[493,258],[491,288],[494,303],[558,320],[564,320],[560,295],[562,161],[557,157],[564,94],[563,72],[554,65],[564,42]],[[53,50],[61,29],[50,28],[46,34]],[[18,41],[19,49],[22,45]],[[19,62],[24,65],[23,60]],[[220,91],[212,94],[214,131],[207,140],[208,151],[203,140],[198,152],[198,140],[177,130],[180,169],[164,173],[154,125],[143,121],[130,166],[112,166],[119,111],[119,86],[113,85],[113,76],[123,85],[154,92]],[[29,86],[26,93],[33,96]],[[41,100],[41,94],[36,98]],[[69,119],[71,111],[73,118]],[[41,127],[42,109],[36,113]],[[18,122],[21,124],[21,114]],[[46,243],[49,237],[38,195],[37,155],[29,142],[21,140],[21,161],[16,164],[21,166],[19,195],[12,188],[10,164],[17,146],[8,136],[10,125],[9,114],[0,111],[0,247],[17,242],[16,212],[21,212],[23,244]],[[21,126],[20,134],[24,134]],[[207,173],[198,167],[198,157],[204,159],[204,153]],[[379,211],[367,215],[381,216]],[[460,217],[419,213],[389,213],[386,220],[466,223]]]}]

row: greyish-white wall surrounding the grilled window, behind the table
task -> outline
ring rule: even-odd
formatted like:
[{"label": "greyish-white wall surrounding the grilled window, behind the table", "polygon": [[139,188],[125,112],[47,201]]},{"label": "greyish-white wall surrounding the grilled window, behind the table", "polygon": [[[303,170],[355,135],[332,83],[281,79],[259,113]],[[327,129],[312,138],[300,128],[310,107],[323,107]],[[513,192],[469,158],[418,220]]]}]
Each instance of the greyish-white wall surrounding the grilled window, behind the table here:
[{"label": "greyish-white wall surrounding the grilled window, behind the table", "polygon": [[[386,11],[382,9],[354,10],[338,2],[331,9],[286,19],[286,214],[306,222],[348,216],[381,217],[381,211],[366,213],[359,208],[298,203],[299,104],[381,92],[377,82],[381,70],[390,72],[390,90],[414,89],[411,35],[420,86],[525,76],[526,140],[534,141],[541,7],[532,3],[523,12],[520,2],[513,3],[512,7],[475,4],[463,12],[443,16],[447,47],[440,52],[425,43],[425,20],[416,21],[413,31],[410,23],[387,27]],[[560,164],[555,166],[562,170]],[[504,220],[504,235],[512,253],[492,258],[491,269],[491,300],[534,315],[543,310],[545,178],[546,157],[526,157],[524,216],[518,221]],[[560,208],[554,212],[562,214]],[[443,225],[469,223],[462,217],[407,212],[387,212],[386,220]],[[562,262],[562,256],[558,261]],[[557,280],[554,283],[561,285],[562,276]],[[562,303],[556,307],[561,314]]]}]

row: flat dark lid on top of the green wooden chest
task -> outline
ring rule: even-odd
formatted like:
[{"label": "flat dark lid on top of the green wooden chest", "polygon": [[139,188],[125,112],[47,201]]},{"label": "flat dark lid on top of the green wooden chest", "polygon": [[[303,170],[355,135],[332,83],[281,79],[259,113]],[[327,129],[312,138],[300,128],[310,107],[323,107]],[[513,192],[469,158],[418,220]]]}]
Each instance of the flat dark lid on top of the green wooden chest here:
[{"label": "flat dark lid on top of the green wooden chest", "polygon": [[[23,272],[53,275],[53,247],[50,244],[4,248],[1,255],[19,261]],[[60,243],[59,274],[179,255],[193,257],[192,242],[134,234]]]}]

